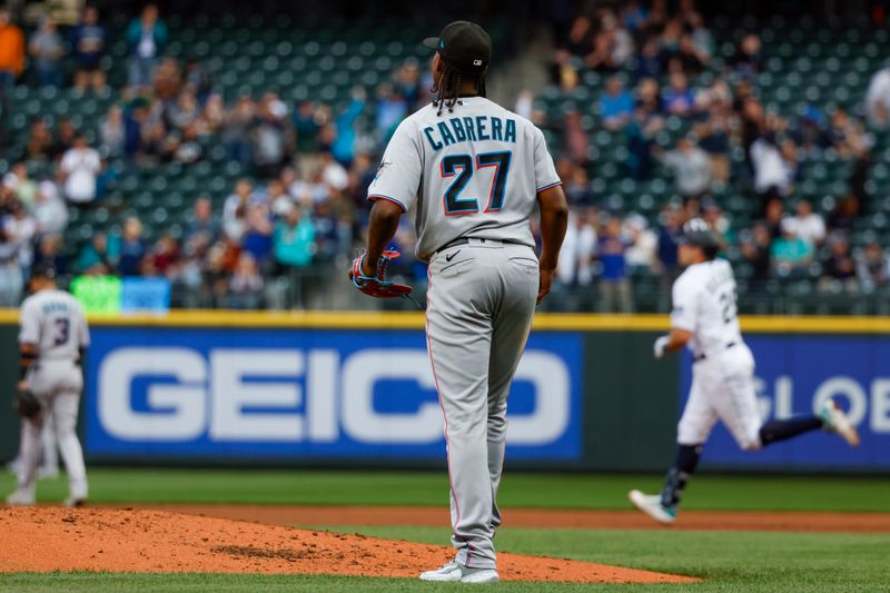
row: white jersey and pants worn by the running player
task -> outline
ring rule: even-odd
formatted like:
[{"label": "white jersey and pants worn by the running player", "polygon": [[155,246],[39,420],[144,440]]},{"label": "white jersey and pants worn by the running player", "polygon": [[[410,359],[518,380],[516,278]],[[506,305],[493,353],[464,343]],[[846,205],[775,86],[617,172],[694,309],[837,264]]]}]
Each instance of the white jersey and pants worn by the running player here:
[{"label": "white jersey and pants worn by the running player", "polygon": [[718,418],[739,446],[760,448],[762,421],[754,391],[754,357],[742,340],[735,276],[724,259],[695,264],[673,286],[671,326],[692,332],[692,388],[678,426],[678,443],[708,441]]}]

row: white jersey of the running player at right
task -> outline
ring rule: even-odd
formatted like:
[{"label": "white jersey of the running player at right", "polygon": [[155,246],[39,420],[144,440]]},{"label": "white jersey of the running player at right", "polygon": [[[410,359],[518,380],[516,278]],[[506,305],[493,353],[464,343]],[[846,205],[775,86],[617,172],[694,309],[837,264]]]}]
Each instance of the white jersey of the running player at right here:
[{"label": "white jersey of the running player at right", "polygon": [[693,333],[690,349],[714,356],[742,340],[735,306],[735,275],[725,259],[694,264],[672,290],[671,326]]}]

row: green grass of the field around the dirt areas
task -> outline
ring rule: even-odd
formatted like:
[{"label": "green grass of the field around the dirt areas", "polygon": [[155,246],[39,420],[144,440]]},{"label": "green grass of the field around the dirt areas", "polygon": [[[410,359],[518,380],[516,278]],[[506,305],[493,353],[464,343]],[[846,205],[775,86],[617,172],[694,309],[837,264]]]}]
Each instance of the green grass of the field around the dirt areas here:
[{"label": "green grass of the field around the dirt areas", "polygon": [[[276,503],[444,505],[442,473],[95,470],[95,503]],[[656,488],[657,476],[507,474],[504,506],[626,508],[631,487]],[[0,487],[12,487],[8,476]],[[65,481],[41,481],[40,498],[58,501]],[[686,508],[890,512],[890,481],[842,477],[726,477],[691,485]],[[323,526],[324,527],[324,526]],[[444,544],[447,530],[332,527],[348,533]],[[2,535],[0,535],[2,536]],[[694,532],[653,528],[502,530],[498,550],[702,576],[695,585],[502,583],[501,591],[890,591],[890,534]],[[453,591],[414,580],[255,575],[13,574],[2,591]]]}]

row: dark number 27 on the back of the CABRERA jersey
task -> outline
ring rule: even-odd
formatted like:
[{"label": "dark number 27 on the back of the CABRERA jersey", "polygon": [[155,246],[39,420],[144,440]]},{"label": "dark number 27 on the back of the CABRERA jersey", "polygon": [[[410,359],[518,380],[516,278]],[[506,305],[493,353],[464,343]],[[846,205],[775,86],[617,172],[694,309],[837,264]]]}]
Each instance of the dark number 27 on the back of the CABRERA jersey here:
[{"label": "dark number 27 on the back of the CABRERA jersey", "polygon": [[[476,156],[476,169],[494,167],[492,190],[488,192],[488,206],[485,213],[497,213],[504,205],[504,192],[507,187],[507,171],[512,152],[485,152]],[[457,170],[459,169],[459,175]],[[457,178],[445,190],[445,215],[457,216],[477,214],[479,204],[476,198],[462,198],[461,192],[473,177],[473,157],[469,155],[449,155],[442,159],[442,177]]]}]

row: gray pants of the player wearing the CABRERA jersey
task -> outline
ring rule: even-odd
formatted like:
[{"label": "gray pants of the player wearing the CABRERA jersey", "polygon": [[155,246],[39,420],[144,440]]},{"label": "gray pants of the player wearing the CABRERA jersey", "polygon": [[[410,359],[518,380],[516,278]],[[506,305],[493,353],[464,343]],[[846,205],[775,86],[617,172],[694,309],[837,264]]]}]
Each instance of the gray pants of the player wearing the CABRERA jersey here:
[{"label": "gray pants of the player wearing the CABRERA jersey", "polygon": [[507,394],[538,288],[531,247],[471,239],[429,261],[426,335],[442,411],[457,562],[494,569]]}]

